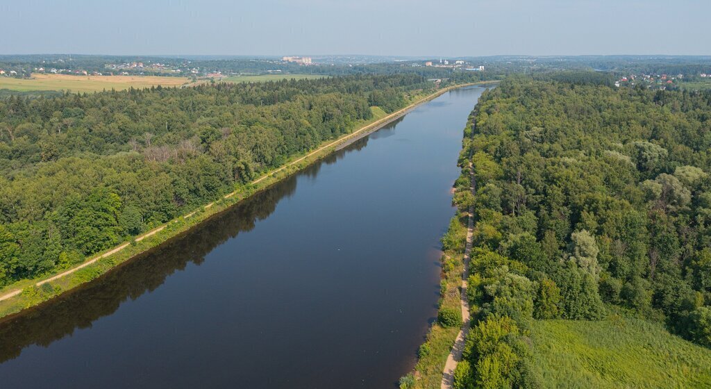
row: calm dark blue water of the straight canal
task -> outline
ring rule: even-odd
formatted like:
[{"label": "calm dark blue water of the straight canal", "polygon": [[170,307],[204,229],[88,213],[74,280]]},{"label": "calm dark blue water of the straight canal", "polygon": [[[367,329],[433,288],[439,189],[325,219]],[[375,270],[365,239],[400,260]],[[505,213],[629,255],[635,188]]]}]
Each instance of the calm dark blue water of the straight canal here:
[{"label": "calm dark blue water of the straight canal", "polygon": [[394,388],[436,315],[483,87],[447,92],[0,324],[1,388]]}]

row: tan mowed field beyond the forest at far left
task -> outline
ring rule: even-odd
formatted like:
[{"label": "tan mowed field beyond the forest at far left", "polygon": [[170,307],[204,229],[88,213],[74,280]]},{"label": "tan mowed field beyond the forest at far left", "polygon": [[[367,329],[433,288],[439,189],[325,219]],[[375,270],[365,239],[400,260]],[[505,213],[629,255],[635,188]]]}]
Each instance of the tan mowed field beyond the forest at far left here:
[{"label": "tan mowed field beyond the forest at far left", "polygon": [[71,92],[101,92],[162,85],[175,87],[188,82],[184,77],[140,75],[57,75],[33,74],[29,80],[0,77],[0,89],[28,92],[36,90],[70,90]]}]

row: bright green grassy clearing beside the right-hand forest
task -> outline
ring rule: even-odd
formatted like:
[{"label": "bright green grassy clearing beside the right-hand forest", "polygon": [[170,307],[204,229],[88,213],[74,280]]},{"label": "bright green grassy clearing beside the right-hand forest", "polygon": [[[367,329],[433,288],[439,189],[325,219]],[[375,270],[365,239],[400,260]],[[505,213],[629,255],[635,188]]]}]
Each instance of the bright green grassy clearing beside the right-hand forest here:
[{"label": "bright green grassy clearing beside the right-hand forest", "polygon": [[533,366],[545,388],[707,388],[711,350],[661,324],[612,314],[600,321],[540,320]]}]

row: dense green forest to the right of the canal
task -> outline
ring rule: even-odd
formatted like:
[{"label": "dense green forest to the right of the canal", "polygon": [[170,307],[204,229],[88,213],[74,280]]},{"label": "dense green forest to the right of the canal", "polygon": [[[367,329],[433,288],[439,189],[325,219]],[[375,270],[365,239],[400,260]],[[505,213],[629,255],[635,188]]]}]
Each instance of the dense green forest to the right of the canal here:
[{"label": "dense green forest to the right of the canal", "polygon": [[539,319],[622,312],[711,346],[711,92],[606,83],[515,76],[476,107],[476,196],[467,169],[455,196],[476,220],[456,388],[538,387]]}]

